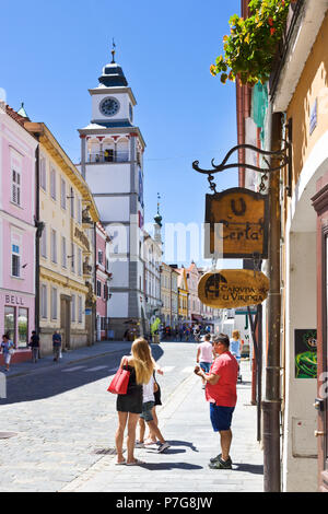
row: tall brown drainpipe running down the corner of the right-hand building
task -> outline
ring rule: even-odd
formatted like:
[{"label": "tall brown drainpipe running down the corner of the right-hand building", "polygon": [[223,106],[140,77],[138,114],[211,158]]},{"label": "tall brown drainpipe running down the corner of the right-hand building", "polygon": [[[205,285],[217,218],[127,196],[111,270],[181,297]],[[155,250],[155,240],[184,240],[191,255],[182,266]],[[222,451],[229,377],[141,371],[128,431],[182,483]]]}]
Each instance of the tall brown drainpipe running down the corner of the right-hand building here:
[{"label": "tall brown drainpipe running down the corner of the right-hand building", "polygon": [[[272,113],[269,102],[269,141],[271,151],[281,148],[281,114]],[[271,162],[271,165],[274,164]],[[265,465],[265,491],[280,492],[280,203],[278,172],[269,177],[269,258],[270,290],[268,294],[268,343],[266,362],[266,389],[262,401],[262,442]]]}]

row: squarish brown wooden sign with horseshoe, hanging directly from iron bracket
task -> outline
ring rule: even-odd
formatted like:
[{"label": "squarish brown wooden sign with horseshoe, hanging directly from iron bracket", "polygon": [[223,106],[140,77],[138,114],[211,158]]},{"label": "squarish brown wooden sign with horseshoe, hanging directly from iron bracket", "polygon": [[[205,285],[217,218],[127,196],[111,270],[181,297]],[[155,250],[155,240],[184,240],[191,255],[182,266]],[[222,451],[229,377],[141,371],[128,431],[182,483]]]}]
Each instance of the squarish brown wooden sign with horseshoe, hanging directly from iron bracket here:
[{"label": "squarish brown wooden sign with horseshoe, hanging directly from iron bracket", "polygon": [[268,258],[267,195],[242,187],[206,197],[206,258]]}]

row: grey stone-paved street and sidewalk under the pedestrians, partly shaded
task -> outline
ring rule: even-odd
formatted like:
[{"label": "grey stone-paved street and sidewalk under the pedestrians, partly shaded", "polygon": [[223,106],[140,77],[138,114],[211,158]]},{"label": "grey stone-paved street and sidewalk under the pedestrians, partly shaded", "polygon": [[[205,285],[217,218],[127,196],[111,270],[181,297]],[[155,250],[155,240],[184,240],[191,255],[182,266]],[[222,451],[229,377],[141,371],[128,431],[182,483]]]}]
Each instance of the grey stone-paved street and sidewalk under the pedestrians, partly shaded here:
[{"label": "grey stone-paved street and sidewalk under the pedestrians, partly shaded", "polygon": [[[159,419],[171,448],[164,454],[138,449],[137,457],[147,463],[142,467],[115,466],[116,397],[106,388],[129,344],[118,348],[107,343],[102,351],[99,346],[87,349],[94,357],[85,360],[80,354],[80,361],[79,351],[72,352],[75,355],[65,355],[67,363],[57,367],[43,363],[39,370],[35,365],[28,374],[8,379],[8,399],[0,400],[1,431],[16,435],[0,441],[1,491],[262,490],[249,362],[243,363],[245,383],[238,385],[233,470],[210,470],[208,462],[218,454],[219,441],[200,379],[192,373],[195,343],[152,346],[164,369]],[[12,373],[19,375],[17,370]]]}]

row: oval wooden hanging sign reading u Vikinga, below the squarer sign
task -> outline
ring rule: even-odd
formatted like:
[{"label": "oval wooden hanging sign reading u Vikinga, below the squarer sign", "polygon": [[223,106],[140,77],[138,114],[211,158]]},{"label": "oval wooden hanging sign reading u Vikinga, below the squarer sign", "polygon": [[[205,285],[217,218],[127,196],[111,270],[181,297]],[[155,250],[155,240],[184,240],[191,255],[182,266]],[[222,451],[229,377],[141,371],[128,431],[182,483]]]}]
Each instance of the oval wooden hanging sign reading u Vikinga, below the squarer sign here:
[{"label": "oval wooden hanging sign reading u Vikinga, below the squarer sign", "polygon": [[199,300],[213,308],[236,308],[262,303],[269,279],[261,271],[220,269],[206,273],[198,283]]}]

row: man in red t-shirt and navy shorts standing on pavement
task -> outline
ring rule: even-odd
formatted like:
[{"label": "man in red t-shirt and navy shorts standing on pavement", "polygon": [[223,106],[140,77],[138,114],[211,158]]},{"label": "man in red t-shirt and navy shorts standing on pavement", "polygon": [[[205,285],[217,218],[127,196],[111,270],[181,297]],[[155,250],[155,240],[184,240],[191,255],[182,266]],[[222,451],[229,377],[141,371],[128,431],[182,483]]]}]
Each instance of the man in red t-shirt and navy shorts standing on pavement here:
[{"label": "man in red t-shirt and navy shorts standing on pavement", "polygon": [[229,348],[229,337],[219,334],[213,339],[213,350],[218,357],[210,372],[206,374],[199,366],[195,367],[195,373],[206,381],[206,399],[210,402],[212,427],[214,432],[220,432],[222,453],[211,458],[209,467],[212,469],[232,469],[229,453],[232,416],[237,402],[238,363]]}]

